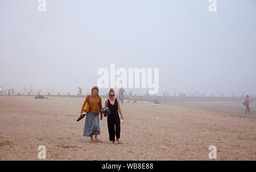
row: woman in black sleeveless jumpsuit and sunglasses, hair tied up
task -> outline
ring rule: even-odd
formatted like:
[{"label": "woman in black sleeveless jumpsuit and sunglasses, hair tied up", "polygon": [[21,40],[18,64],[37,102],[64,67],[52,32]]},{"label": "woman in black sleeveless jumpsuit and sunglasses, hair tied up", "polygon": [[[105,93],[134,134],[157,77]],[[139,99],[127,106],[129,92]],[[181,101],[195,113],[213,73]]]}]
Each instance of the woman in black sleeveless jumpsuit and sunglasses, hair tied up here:
[{"label": "woman in black sleeveless jumpsuit and sunglasses, hair tied up", "polygon": [[115,92],[113,89],[109,91],[109,99],[106,100],[105,106],[110,108],[110,115],[108,115],[108,129],[109,129],[109,140],[114,144],[115,136],[117,137],[117,142],[119,143],[120,138],[120,119],[118,111],[123,119],[122,111],[119,105],[119,100],[114,99]]}]

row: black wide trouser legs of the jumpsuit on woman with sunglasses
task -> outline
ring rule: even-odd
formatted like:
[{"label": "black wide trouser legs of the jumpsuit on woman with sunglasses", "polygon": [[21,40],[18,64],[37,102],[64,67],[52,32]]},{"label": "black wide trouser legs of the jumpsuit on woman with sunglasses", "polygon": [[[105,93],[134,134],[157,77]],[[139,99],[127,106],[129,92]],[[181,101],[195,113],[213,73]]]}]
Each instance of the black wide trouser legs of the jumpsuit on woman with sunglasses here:
[{"label": "black wide trouser legs of the jumpsuit on woman with sunglasses", "polygon": [[110,141],[115,141],[115,136],[117,139],[120,138],[120,119],[118,114],[108,116],[108,129]]}]

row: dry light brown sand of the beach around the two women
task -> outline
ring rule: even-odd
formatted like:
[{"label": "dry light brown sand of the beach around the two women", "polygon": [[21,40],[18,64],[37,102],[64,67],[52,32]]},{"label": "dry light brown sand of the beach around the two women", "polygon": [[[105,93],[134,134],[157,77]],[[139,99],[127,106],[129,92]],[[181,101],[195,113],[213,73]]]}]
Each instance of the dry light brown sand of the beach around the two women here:
[{"label": "dry light brown sand of the beach around the two women", "polygon": [[105,117],[99,142],[82,136],[85,118],[76,119],[83,102],[0,96],[0,160],[38,160],[39,145],[46,160],[209,160],[210,145],[217,160],[256,160],[256,103],[245,115],[241,102],[125,100],[122,143],[112,145]]}]

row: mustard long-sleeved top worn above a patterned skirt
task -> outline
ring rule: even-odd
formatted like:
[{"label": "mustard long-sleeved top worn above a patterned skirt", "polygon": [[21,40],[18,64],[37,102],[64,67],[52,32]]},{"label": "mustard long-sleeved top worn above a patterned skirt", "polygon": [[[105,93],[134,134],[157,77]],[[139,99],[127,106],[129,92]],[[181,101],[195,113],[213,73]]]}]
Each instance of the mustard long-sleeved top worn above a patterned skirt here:
[{"label": "mustard long-sleeved top worn above a patterned skirt", "polygon": [[[100,110],[102,109],[102,104],[101,104],[101,97],[93,97],[92,95],[86,96],[85,100],[84,100],[84,104],[82,104],[82,110],[84,109],[84,106],[87,102],[87,100],[89,99],[89,112],[93,112],[95,114],[100,114]],[[82,112],[81,110],[81,112]]]}]

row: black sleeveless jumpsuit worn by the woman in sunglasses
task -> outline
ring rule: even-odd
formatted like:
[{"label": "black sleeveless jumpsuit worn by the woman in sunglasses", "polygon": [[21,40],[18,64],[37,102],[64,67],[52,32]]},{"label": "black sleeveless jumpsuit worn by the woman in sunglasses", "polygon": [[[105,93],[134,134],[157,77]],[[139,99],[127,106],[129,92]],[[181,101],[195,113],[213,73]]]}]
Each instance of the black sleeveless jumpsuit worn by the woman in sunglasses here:
[{"label": "black sleeveless jumpsuit worn by the woman in sunglasses", "polygon": [[108,115],[108,129],[109,129],[109,140],[115,141],[115,136],[117,139],[120,138],[120,119],[118,115],[118,104],[115,98],[114,105],[110,103],[108,99],[108,107],[110,108],[110,115]]}]

